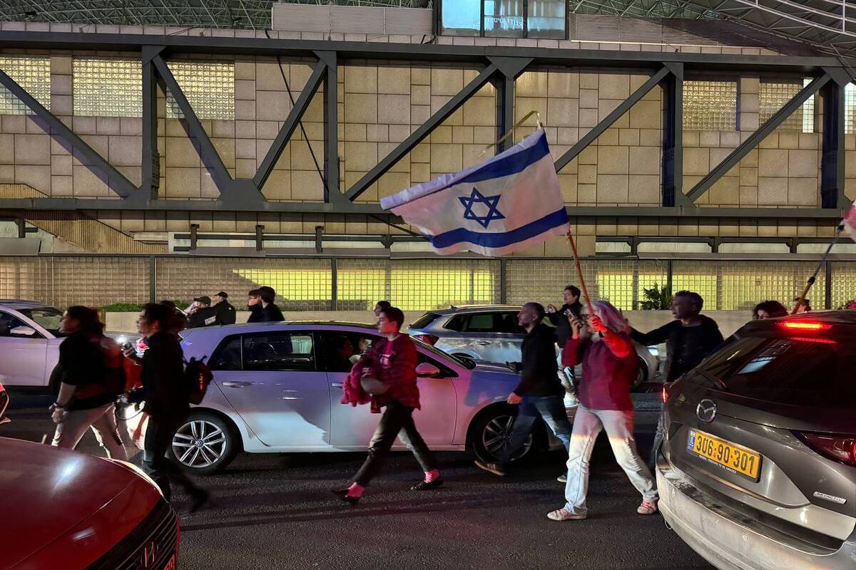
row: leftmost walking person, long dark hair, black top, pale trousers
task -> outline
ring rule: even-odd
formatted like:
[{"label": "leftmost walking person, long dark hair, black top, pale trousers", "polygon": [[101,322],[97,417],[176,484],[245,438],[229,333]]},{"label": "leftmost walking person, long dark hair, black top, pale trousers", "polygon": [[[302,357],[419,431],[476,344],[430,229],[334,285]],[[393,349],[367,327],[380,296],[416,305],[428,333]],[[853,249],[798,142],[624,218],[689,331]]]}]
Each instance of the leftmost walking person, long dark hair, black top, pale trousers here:
[{"label": "leftmost walking person, long dark hair, black top, pale trousers", "polygon": [[53,445],[74,449],[90,427],[114,459],[127,459],[116,428],[116,396],[121,391],[122,350],[104,337],[94,309],[75,305],[62,314],[59,394],[51,406],[56,423]]}]

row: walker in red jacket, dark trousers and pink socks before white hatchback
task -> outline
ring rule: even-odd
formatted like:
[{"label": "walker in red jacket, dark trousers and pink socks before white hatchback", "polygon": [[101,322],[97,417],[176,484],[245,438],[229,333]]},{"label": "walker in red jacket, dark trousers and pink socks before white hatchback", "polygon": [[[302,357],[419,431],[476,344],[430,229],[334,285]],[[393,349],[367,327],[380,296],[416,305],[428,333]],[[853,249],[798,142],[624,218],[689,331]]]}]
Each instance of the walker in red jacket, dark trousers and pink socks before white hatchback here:
[{"label": "walker in red jacket, dark trousers and pink socks before white hatchback", "polygon": [[[333,491],[351,504],[360,501],[364,489],[380,471],[389,455],[389,448],[402,430],[402,440],[413,451],[416,461],[419,461],[425,472],[425,479],[413,485],[411,490],[427,491],[443,485],[437,461],[413,423],[413,410],[419,409],[419,386],[416,385],[418,353],[410,337],[401,333],[403,323],[404,313],[401,309],[383,309],[377,316],[377,332],[383,337],[360,357],[351,370],[351,379],[357,374],[366,373],[383,385],[383,391],[377,391],[371,396],[372,414],[379,414],[381,408],[386,408],[369,444],[369,455],[354,475],[354,482],[344,489]],[[360,391],[360,388],[357,390]],[[357,403],[360,403],[359,395],[355,397]],[[343,399],[342,403],[347,402]]]}]

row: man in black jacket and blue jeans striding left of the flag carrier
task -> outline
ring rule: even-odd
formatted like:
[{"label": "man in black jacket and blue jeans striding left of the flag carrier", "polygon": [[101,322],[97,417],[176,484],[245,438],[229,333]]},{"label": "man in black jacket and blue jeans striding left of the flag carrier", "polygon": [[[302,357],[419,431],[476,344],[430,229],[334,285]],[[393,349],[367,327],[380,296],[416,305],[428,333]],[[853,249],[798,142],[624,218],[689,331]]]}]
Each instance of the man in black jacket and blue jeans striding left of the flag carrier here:
[{"label": "man in black jacket and blue jeans striding left of the flag carrier", "polygon": [[[517,406],[517,419],[508,444],[497,463],[476,461],[476,466],[495,475],[504,475],[514,456],[520,452],[532,425],[540,415],[550,431],[562,441],[565,450],[571,442],[573,427],[568,421],[562,397],[565,388],[556,375],[556,335],[542,322],[546,312],[540,303],[526,303],[517,321],[526,329],[521,346],[520,383],[508,395],[508,403]],[[566,317],[567,319],[567,317]]]}]

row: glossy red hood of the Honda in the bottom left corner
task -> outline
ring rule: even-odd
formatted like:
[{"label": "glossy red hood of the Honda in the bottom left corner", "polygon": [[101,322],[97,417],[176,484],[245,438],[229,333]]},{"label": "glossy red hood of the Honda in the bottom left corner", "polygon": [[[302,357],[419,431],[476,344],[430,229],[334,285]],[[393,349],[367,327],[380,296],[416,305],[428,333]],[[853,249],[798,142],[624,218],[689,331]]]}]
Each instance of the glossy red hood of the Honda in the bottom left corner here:
[{"label": "glossy red hood of the Honda in the bottom left corner", "polygon": [[[0,438],[0,568],[25,560],[143,481],[99,457]],[[149,491],[153,504],[159,496]]]}]

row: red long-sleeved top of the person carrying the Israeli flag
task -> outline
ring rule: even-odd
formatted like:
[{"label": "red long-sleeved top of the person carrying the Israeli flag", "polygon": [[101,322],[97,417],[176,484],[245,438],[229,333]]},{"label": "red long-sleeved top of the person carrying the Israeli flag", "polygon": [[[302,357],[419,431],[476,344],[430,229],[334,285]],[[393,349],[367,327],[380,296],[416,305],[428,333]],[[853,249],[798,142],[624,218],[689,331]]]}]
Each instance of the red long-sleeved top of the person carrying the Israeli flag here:
[{"label": "red long-sleeved top of the person carrying the Israeli flag", "polygon": [[580,403],[589,409],[629,411],[633,409],[630,387],[639,373],[639,359],[633,341],[623,332],[607,331],[594,342],[591,338],[568,338],[562,350],[562,365],[583,365]]}]

